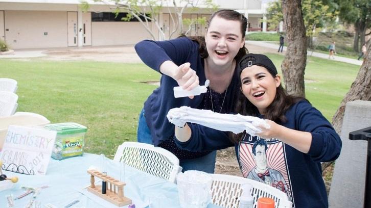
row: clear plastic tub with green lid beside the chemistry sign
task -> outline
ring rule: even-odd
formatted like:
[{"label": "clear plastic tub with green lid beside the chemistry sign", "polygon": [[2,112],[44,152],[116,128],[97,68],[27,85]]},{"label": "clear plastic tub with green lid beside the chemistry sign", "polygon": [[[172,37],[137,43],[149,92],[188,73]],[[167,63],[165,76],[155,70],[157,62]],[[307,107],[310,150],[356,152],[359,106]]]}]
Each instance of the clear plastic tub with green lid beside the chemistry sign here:
[{"label": "clear plastic tub with green lid beside the chemistry sign", "polygon": [[52,158],[63,160],[76,156],[82,156],[85,133],[87,128],[78,123],[53,123],[45,125],[45,128],[56,131]]}]

